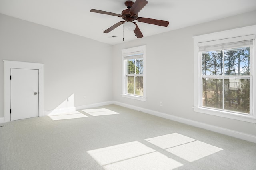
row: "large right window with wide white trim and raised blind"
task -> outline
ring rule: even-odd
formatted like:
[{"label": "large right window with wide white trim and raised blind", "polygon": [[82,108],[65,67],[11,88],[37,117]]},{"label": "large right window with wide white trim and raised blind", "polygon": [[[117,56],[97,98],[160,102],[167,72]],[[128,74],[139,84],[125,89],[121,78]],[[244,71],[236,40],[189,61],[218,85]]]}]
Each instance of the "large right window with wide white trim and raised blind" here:
[{"label": "large right window with wide white trim and raised blind", "polygon": [[255,29],[194,37],[194,111],[255,121]]}]

